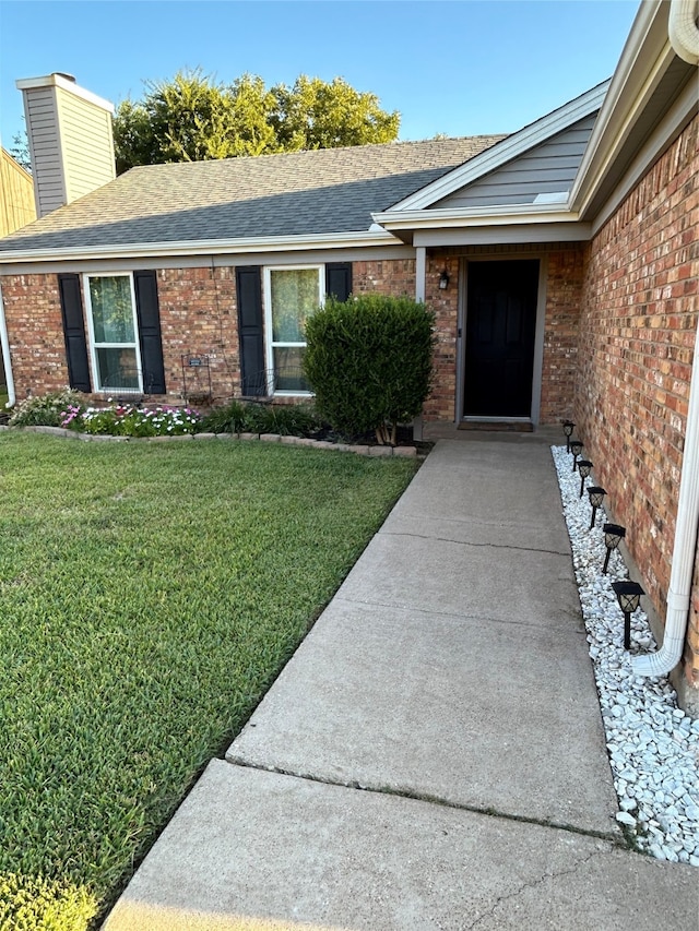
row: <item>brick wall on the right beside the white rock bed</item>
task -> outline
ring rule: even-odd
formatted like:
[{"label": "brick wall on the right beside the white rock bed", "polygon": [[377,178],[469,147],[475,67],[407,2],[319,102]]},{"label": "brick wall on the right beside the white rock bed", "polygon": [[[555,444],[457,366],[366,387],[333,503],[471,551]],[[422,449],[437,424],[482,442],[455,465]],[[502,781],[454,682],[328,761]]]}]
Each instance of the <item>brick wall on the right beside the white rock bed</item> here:
[{"label": "brick wall on the right beside the white rock bed", "polygon": [[[573,419],[662,619],[699,313],[698,153],[695,118],[592,241],[578,348]],[[684,661],[699,685],[698,660],[695,588]]]}]

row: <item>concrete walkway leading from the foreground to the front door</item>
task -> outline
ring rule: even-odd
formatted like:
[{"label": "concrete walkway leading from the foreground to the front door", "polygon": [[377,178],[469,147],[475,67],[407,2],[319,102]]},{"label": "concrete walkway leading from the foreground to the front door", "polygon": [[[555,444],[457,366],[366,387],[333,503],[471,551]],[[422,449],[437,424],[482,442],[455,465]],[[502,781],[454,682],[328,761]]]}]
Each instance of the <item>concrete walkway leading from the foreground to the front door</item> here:
[{"label": "concrete walkway leading from the foreground to the front door", "polygon": [[699,927],[614,819],[547,439],[437,443],[108,931]]}]

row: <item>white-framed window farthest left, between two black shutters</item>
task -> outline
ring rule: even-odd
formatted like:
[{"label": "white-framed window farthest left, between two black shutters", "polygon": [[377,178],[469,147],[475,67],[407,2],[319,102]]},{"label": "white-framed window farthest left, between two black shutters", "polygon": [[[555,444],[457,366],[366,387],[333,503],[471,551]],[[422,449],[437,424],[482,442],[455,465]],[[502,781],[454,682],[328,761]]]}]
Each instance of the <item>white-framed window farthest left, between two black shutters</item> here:
[{"label": "white-framed window farthest left, between two black shutters", "polygon": [[86,275],[85,301],[95,390],[142,391],[132,275]]}]

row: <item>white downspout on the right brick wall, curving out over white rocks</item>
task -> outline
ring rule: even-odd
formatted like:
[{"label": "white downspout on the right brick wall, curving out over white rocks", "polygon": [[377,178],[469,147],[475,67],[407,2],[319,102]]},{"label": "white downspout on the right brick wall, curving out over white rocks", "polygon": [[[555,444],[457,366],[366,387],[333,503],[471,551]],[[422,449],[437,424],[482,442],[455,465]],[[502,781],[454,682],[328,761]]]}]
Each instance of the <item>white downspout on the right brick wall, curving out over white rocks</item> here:
[{"label": "white downspout on the right brick wall, curving out over white rocks", "polygon": [[659,650],[631,657],[631,669],[635,676],[665,676],[682,659],[685,645],[699,529],[699,343],[697,339],[699,334],[695,338],[695,357],[691,366],[689,409],[679,478],[665,634]]}]

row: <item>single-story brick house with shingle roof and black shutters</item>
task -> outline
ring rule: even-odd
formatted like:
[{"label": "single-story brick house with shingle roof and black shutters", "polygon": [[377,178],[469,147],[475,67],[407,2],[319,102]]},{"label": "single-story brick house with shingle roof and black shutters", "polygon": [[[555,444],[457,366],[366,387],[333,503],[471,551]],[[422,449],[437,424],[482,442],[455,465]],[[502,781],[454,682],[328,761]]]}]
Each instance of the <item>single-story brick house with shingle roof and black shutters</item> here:
[{"label": "single-story brick house with shingle roof and black shutters", "polygon": [[[609,82],[506,138],[137,168],[64,198],[0,240],[11,396],[70,382],[173,402],[203,362],[214,399],[303,396],[303,320],[324,294],[424,299],[424,423],[576,420],[672,634],[639,671],[677,667],[699,713],[699,118],[678,7],[643,2]],[[27,115],[74,89],[21,84]]]}]

